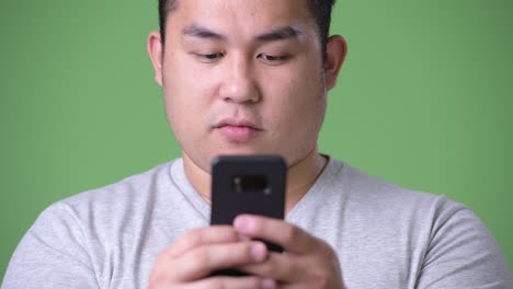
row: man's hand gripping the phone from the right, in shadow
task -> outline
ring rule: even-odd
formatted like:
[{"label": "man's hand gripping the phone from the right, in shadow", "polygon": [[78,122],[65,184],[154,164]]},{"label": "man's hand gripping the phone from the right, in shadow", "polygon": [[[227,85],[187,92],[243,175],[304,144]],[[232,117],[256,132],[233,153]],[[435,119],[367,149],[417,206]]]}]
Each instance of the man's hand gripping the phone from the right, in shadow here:
[{"label": "man's hand gripping the phone from the right, in shadow", "polygon": [[243,215],[236,218],[239,234],[276,243],[285,253],[270,253],[264,263],[240,267],[270,278],[278,288],[341,289],[342,276],[333,250],[323,241],[282,220]]}]

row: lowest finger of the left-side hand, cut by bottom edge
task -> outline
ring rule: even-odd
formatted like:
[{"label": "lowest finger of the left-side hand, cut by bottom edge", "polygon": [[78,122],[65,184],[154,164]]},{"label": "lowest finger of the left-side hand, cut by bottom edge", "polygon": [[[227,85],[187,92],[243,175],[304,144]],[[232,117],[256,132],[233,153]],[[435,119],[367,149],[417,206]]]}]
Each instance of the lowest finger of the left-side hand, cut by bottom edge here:
[{"label": "lowest finger of the left-side hand, cut by bottom edge", "polygon": [[202,279],[191,284],[191,289],[212,289],[212,288],[224,288],[224,289],[274,289],[276,282],[271,279],[262,279],[256,276],[248,277],[212,277]]}]

